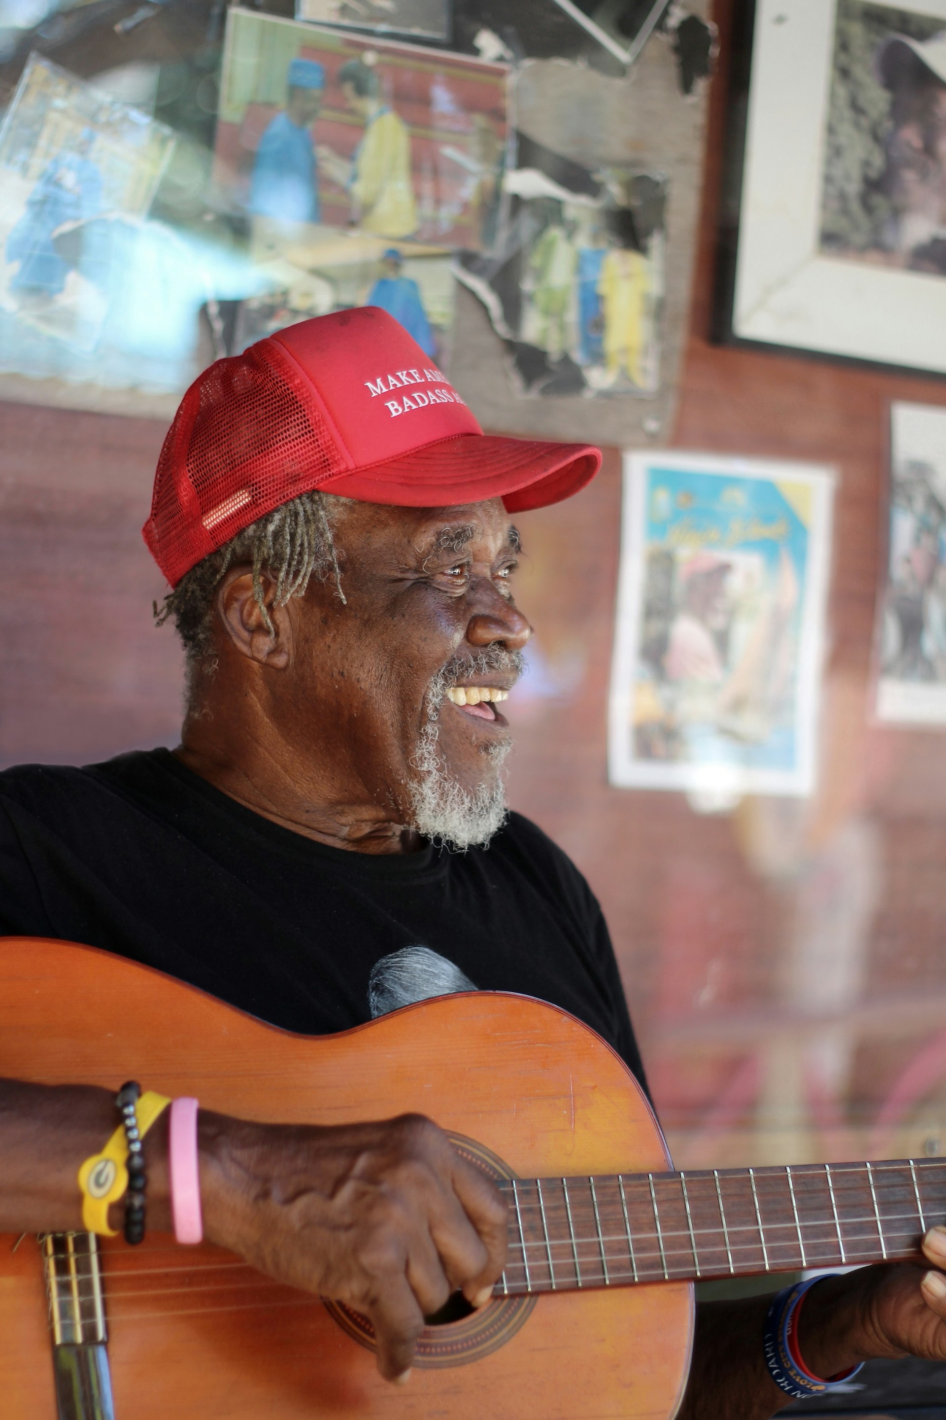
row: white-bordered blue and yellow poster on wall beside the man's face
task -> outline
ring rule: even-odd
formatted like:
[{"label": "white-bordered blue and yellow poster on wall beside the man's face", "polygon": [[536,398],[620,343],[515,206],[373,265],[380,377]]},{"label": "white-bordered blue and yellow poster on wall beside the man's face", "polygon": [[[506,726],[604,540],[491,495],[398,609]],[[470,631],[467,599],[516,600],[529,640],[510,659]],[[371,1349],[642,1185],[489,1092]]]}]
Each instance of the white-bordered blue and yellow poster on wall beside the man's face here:
[{"label": "white-bordered blue and yellow poster on wall beside the man's face", "polygon": [[832,491],[814,464],[625,454],[612,784],[812,792]]}]

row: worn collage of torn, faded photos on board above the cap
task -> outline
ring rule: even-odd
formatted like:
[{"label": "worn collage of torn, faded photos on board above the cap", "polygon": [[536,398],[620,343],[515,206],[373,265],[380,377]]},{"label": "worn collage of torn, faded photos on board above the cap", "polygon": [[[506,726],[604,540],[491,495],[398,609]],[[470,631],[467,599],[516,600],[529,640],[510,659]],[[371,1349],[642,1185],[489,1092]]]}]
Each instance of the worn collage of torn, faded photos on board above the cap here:
[{"label": "worn collage of torn, faded photos on board above the cap", "polygon": [[446,366],[459,278],[517,395],[652,395],[665,179],[517,133],[521,57],[446,48],[455,18],[298,0],[212,11],[187,62],[33,53],[0,126],[0,385],[163,413],[209,361],[361,304]]}]

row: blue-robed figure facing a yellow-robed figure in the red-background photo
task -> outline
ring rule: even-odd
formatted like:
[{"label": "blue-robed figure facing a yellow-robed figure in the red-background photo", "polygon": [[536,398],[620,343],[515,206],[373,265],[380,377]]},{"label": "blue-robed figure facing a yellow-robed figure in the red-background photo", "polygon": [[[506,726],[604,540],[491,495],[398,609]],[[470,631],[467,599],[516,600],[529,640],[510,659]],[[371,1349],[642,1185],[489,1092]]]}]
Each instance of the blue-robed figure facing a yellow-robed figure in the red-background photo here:
[{"label": "blue-robed figure facing a yellow-robed figure in the red-background photo", "polygon": [[250,212],[277,222],[318,222],[318,165],[312,124],[322,106],[325,71],[295,58],[287,71],[288,102],[270,119],[253,160]]}]

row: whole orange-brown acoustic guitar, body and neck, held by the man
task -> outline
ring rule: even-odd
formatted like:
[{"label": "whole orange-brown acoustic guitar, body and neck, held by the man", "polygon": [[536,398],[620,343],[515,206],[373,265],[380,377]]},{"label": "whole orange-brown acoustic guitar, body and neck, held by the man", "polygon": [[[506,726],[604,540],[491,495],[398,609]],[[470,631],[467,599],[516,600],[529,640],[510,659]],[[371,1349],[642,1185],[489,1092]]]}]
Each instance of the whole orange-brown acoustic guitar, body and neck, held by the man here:
[{"label": "whole orange-brown acoustic guitar, body and neck, held by the man", "polygon": [[403,1387],[379,1379],[357,1312],[219,1248],[0,1237],[4,1420],[666,1420],[697,1278],[913,1258],[946,1218],[937,1160],[672,1173],[622,1061],[517,995],[440,997],[310,1038],[121,957],[9,937],[0,1075],[134,1076],[259,1120],[418,1110],[510,1206],[493,1301],[447,1305]]}]

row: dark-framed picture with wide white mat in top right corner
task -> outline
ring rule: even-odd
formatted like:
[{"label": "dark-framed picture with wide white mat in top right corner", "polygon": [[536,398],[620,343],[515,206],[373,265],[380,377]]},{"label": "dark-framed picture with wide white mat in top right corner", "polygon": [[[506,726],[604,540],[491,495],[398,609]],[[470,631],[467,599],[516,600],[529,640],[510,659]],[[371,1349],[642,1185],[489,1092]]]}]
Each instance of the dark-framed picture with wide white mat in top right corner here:
[{"label": "dark-framed picture with wide white mat in top right corner", "polygon": [[946,373],[946,0],[757,0],[729,334]]}]

